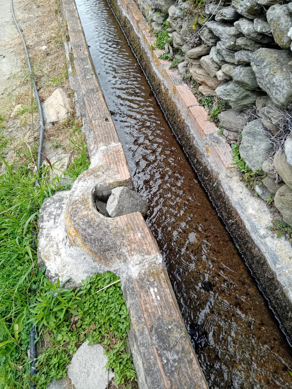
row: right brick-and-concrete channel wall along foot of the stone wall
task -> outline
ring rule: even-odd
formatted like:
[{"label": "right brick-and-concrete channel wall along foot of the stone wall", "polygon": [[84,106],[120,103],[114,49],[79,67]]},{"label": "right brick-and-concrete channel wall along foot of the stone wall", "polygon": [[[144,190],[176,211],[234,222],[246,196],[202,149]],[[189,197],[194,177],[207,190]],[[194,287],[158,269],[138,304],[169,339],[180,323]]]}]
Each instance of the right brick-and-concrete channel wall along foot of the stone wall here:
[{"label": "right brick-and-concrete channel wall along foot of the stone wall", "polygon": [[229,144],[177,70],[158,59],[156,37],[134,0],[109,0],[137,57],[150,79],[174,132],[229,231],[239,244],[249,268],[269,300],[282,328],[292,338],[292,248],[267,230],[272,216],[266,203],[254,197],[232,165]]}]

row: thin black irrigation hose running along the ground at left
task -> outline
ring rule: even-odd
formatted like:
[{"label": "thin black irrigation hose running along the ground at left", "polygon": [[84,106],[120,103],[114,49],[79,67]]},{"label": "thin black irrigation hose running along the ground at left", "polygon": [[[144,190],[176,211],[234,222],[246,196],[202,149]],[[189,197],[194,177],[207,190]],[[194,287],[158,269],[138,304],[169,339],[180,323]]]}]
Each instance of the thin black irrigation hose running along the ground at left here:
[{"label": "thin black irrigation hose running along the ground at left", "polygon": [[[16,21],[16,18],[14,16],[12,0],[10,2],[10,6],[11,6],[12,18],[13,18],[14,23],[16,25],[16,28],[17,28],[17,30],[19,32],[19,35],[21,36],[21,40],[22,40],[23,47],[24,47],[24,50],[25,50],[25,56],[26,56],[26,61],[27,61],[27,65],[28,65],[28,70],[30,72],[30,79],[32,81],[33,90],[35,92],[35,98],[37,100],[37,107],[38,107],[38,110],[39,110],[40,139],[39,139],[39,148],[38,148],[38,151],[37,151],[37,171],[38,171],[38,174],[40,176],[40,166],[42,165],[42,146],[43,146],[43,143],[44,143],[44,115],[43,115],[43,112],[42,112],[42,105],[40,103],[40,98],[39,98],[39,93],[37,91],[37,86],[35,85],[35,80],[34,80],[33,73],[32,73],[32,66],[30,65],[30,58],[29,58],[29,55],[28,55],[25,39],[24,39],[24,37],[23,37],[23,35],[21,33],[21,30],[20,30],[20,28],[18,26],[18,23]],[[38,186],[38,185],[39,185],[39,178],[37,178],[35,180],[35,187]],[[33,247],[34,250],[36,250],[35,240],[36,240],[35,229],[33,229],[32,247]],[[33,296],[33,293],[32,293],[32,296]],[[35,345],[35,335],[36,335],[36,333],[35,333],[35,326],[32,325],[32,329],[30,331],[30,359],[31,359],[31,363],[30,363],[30,377],[32,377],[35,374],[35,361],[36,361],[36,358],[37,358],[37,347]],[[35,385],[33,384],[32,381],[31,381],[31,384],[30,384],[30,389],[35,389]]]}]

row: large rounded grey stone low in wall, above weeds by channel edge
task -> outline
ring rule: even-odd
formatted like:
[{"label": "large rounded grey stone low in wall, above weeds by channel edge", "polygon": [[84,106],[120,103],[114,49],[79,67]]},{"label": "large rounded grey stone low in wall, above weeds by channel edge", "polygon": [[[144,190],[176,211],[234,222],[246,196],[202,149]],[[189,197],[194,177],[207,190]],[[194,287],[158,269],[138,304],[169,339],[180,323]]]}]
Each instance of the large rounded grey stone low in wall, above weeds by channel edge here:
[{"label": "large rounded grey stone low in wall, above weeds by channel edge", "polygon": [[262,168],[267,152],[272,148],[269,138],[262,132],[260,119],[246,124],[242,130],[242,140],[239,146],[241,158],[253,170]]}]

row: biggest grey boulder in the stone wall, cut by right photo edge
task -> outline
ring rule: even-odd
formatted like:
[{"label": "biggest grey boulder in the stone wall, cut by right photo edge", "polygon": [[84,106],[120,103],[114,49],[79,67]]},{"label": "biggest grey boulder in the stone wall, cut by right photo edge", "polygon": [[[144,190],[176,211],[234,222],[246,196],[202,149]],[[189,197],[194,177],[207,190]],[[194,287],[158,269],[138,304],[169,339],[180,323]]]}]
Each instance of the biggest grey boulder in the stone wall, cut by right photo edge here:
[{"label": "biggest grey boulder in the stone wall, cut by right photo edge", "polygon": [[286,50],[259,49],[250,62],[260,88],[267,92],[274,104],[285,107],[292,101],[292,53]]}]

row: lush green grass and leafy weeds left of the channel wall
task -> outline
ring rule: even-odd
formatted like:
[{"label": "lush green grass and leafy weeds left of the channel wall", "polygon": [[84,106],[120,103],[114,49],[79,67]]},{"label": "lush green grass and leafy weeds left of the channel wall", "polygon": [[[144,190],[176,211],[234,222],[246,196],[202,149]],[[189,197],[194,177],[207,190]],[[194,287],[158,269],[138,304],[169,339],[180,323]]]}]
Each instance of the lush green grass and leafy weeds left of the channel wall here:
[{"label": "lush green grass and leafy weeds left of the channel wall", "polygon": [[[73,182],[88,168],[89,161],[80,123],[73,118],[68,120],[61,126],[70,126],[76,158],[65,177]],[[2,130],[4,123],[1,116]],[[0,142],[5,145],[4,135]],[[130,387],[135,370],[126,350],[130,319],[120,283],[95,293],[117,277],[110,272],[95,274],[87,277],[78,291],[73,291],[59,282],[49,282],[44,269],[37,268],[32,240],[33,229],[38,232],[39,210],[45,198],[64,187],[59,177],[52,178],[50,166],[44,168],[40,184],[35,187],[39,178],[33,168],[36,150],[37,145],[26,150],[25,158],[19,157],[13,164],[2,157],[5,172],[0,175],[0,389],[30,387],[27,350],[32,323],[37,327],[37,341],[43,346],[46,339],[47,345],[37,359],[33,377],[37,389],[46,388],[51,379],[58,380],[66,374],[72,354],[86,338],[90,344],[104,345],[116,383]],[[23,151],[16,154],[22,155]]]}]

